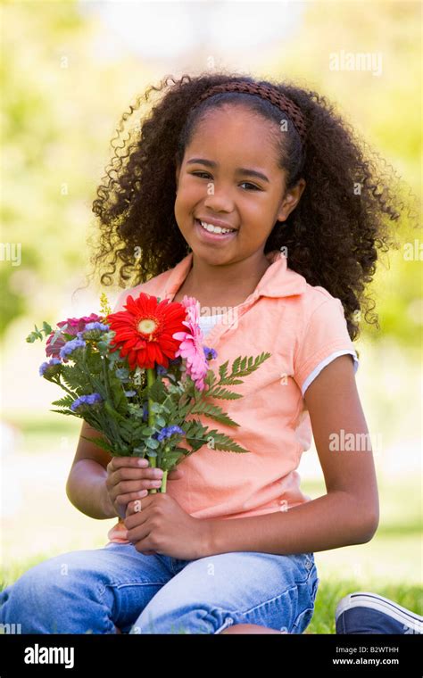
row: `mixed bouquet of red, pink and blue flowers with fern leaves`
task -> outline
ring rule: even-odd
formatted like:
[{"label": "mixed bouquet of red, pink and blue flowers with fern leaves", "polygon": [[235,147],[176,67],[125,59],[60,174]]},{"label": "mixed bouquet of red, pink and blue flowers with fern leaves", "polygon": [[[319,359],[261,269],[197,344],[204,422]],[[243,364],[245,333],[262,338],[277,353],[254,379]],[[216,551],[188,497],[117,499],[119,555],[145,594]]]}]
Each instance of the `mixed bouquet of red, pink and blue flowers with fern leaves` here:
[{"label": "mixed bouquet of red, pink and blue flowers with fern leaves", "polygon": [[217,353],[203,346],[194,297],[178,303],[141,293],[136,299],[129,295],[124,308],[112,313],[102,294],[99,315],[68,318],[55,330],[44,322],[29,334],[29,343],[46,338],[49,360],[39,368],[40,376],[66,393],[51,411],[87,421],[103,436],[84,436],[86,440],[111,455],[146,456],[152,467],[161,467],[160,492],[166,492],[172,468],[204,444],[248,452],[195,415],[238,426],[214,400],[241,398],[227,386],[242,384],[241,377],[259,368],[270,353],[255,360],[236,358],[230,374],[227,360],[218,381],[209,368]]}]

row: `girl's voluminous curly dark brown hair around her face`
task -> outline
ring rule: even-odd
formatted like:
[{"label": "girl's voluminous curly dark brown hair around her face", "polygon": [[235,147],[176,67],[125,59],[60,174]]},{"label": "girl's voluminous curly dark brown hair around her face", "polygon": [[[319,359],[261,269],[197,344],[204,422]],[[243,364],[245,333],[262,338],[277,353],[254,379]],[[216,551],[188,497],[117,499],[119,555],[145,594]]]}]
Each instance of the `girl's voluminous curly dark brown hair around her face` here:
[{"label": "girl's voluminous curly dark brown hair around her face", "polygon": [[[305,147],[285,116],[287,134],[281,135],[278,153],[279,166],[286,170],[286,188],[302,177],[306,187],[285,226],[277,222],[271,231],[264,253],[286,248],[290,269],[340,299],[353,341],[360,332],[363,309],[367,322],[377,325],[377,315],[370,313],[375,303],[364,296],[364,290],[376,271],[377,248],[398,249],[386,222],[400,219],[404,202],[394,170],[390,166],[386,173],[380,170],[378,154],[357,139],[334,104],[286,81],[220,70],[180,79],[166,76],[159,87],[152,85],[137,97],[112,138],[114,156],[92,208],[100,237],[91,261],[102,272],[101,284],[113,284],[118,262],[120,287],[129,286],[128,280],[134,286],[173,268],[190,251],[174,215],[175,171],[204,112],[223,103],[242,102],[278,125],[284,119],[284,113],[269,101],[230,92],[214,95],[193,110],[206,89],[235,80],[274,87],[303,112]],[[126,121],[152,92],[161,94],[160,100],[123,139]]]}]

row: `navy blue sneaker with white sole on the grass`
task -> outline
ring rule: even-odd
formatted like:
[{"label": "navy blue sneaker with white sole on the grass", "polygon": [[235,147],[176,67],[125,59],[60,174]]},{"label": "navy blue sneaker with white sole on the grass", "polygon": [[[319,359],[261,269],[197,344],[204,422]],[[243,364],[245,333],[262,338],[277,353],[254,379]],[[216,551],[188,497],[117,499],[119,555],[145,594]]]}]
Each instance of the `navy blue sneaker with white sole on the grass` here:
[{"label": "navy blue sneaker with white sole on the grass", "polygon": [[358,591],[341,599],[336,633],[423,633],[423,617],[377,593]]}]

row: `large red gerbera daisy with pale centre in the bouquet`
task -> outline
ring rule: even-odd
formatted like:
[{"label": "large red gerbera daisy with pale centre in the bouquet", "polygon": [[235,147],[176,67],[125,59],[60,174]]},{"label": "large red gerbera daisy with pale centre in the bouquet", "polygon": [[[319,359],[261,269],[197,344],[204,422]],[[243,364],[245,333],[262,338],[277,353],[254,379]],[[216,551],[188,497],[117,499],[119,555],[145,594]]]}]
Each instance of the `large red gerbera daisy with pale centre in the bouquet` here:
[{"label": "large red gerbera daisy with pale centre in the bouquet", "polygon": [[126,310],[111,313],[105,322],[116,335],[112,339],[114,349],[120,349],[121,358],[128,356],[129,367],[151,369],[155,365],[169,367],[169,360],[175,358],[179,343],[173,338],[176,332],[183,332],[182,321],[187,309],[178,302],[141,292],[137,299],[127,297]]}]

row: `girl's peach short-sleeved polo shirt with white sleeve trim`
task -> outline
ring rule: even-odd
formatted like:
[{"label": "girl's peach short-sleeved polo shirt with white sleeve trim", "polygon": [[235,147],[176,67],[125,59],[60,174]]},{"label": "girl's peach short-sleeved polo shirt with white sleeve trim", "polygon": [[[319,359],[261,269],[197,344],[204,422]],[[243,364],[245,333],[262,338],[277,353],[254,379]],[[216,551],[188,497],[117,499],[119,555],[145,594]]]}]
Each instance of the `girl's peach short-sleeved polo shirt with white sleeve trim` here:
[{"label": "girl's peach short-sleeved polo shirt with white sleeve trim", "polygon": [[[209,362],[218,378],[226,360],[230,370],[238,356],[255,358],[263,351],[271,356],[243,384],[229,387],[243,398],[215,401],[239,426],[193,415],[203,426],[217,428],[249,450],[236,453],[203,445],[180,462],[184,476],[168,481],[167,492],[193,517],[261,516],[311,500],[301,491],[296,470],[312,436],[303,394],[337,356],[350,353],[354,372],[359,365],[341,301],[289,269],[283,252],[274,250],[266,257],[270,266],[245,302],[217,314],[214,324],[202,318],[202,327],[210,326],[203,343],[218,353]],[[192,260],[190,252],[173,269],[124,290],[113,311],[124,310],[126,297],[140,292],[171,301]],[[111,542],[127,541],[121,521],[108,537]]]}]

